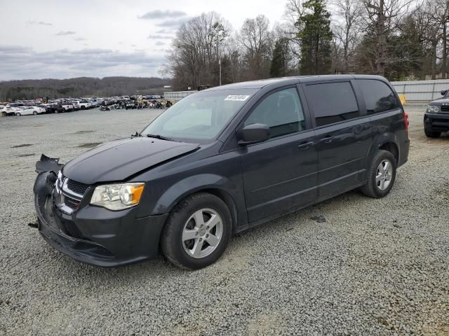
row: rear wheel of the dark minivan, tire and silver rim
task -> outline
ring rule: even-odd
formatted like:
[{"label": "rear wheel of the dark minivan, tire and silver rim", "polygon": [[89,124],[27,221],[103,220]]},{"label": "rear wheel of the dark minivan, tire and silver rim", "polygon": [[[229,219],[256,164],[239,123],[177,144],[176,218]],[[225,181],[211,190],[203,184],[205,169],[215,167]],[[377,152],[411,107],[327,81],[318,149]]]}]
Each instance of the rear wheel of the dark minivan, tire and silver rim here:
[{"label": "rear wheel of the dark minivan, tire and silver rim", "polygon": [[[387,162],[387,165],[385,163]],[[381,167],[382,165],[382,167]],[[382,172],[382,169],[386,171]],[[368,181],[361,192],[373,198],[385,197],[396,180],[396,159],[389,151],[377,151],[368,169]],[[382,185],[383,181],[383,185]]]}]

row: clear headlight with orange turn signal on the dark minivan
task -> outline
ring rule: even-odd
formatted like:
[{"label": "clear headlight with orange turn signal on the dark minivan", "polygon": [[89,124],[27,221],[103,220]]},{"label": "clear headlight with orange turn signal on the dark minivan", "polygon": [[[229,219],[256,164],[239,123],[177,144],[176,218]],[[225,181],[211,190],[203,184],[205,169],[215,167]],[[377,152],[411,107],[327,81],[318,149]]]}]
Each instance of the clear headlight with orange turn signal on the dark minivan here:
[{"label": "clear headlight with orange turn signal on the dark minivan", "polygon": [[92,205],[109,210],[123,210],[139,204],[145,183],[123,183],[98,186],[93,191]]}]

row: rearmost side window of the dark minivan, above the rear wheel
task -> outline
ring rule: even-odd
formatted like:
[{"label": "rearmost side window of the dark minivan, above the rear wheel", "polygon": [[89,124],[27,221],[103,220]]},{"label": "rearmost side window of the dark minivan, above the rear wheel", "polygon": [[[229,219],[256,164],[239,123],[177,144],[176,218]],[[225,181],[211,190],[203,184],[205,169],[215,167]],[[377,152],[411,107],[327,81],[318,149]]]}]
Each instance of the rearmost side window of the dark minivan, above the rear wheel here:
[{"label": "rearmost side window of the dark minivan, above the rear wheel", "polygon": [[401,107],[389,86],[380,80],[358,79],[368,114],[380,113]]}]

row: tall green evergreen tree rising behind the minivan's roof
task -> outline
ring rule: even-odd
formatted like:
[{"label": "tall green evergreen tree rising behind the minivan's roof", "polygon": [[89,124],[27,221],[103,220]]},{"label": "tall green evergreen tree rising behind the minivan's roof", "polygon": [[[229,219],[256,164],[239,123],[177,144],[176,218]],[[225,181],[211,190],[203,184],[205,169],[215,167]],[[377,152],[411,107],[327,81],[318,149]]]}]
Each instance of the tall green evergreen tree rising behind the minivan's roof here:
[{"label": "tall green evergreen tree rising behind the minivan's roof", "polygon": [[296,22],[300,28],[297,34],[301,42],[300,73],[329,73],[332,65],[330,43],[333,38],[330,13],[323,0],[308,0],[303,7],[306,10]]}]

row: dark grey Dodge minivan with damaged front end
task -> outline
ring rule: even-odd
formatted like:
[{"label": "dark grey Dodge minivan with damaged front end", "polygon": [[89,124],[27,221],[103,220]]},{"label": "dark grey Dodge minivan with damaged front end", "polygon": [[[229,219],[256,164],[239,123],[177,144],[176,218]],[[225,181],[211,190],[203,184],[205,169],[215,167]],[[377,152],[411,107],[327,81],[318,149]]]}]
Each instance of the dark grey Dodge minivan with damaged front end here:
[{"label": "dark grey Dodge minivan with damaged front end", "polygon": [[161,251],[197,269],[235,232],[354,188],[384,197],[408,149],[408,116],[379,76],[213,87],[66,165],[43,155],[36,226],[82,262],[112,267]]}]

